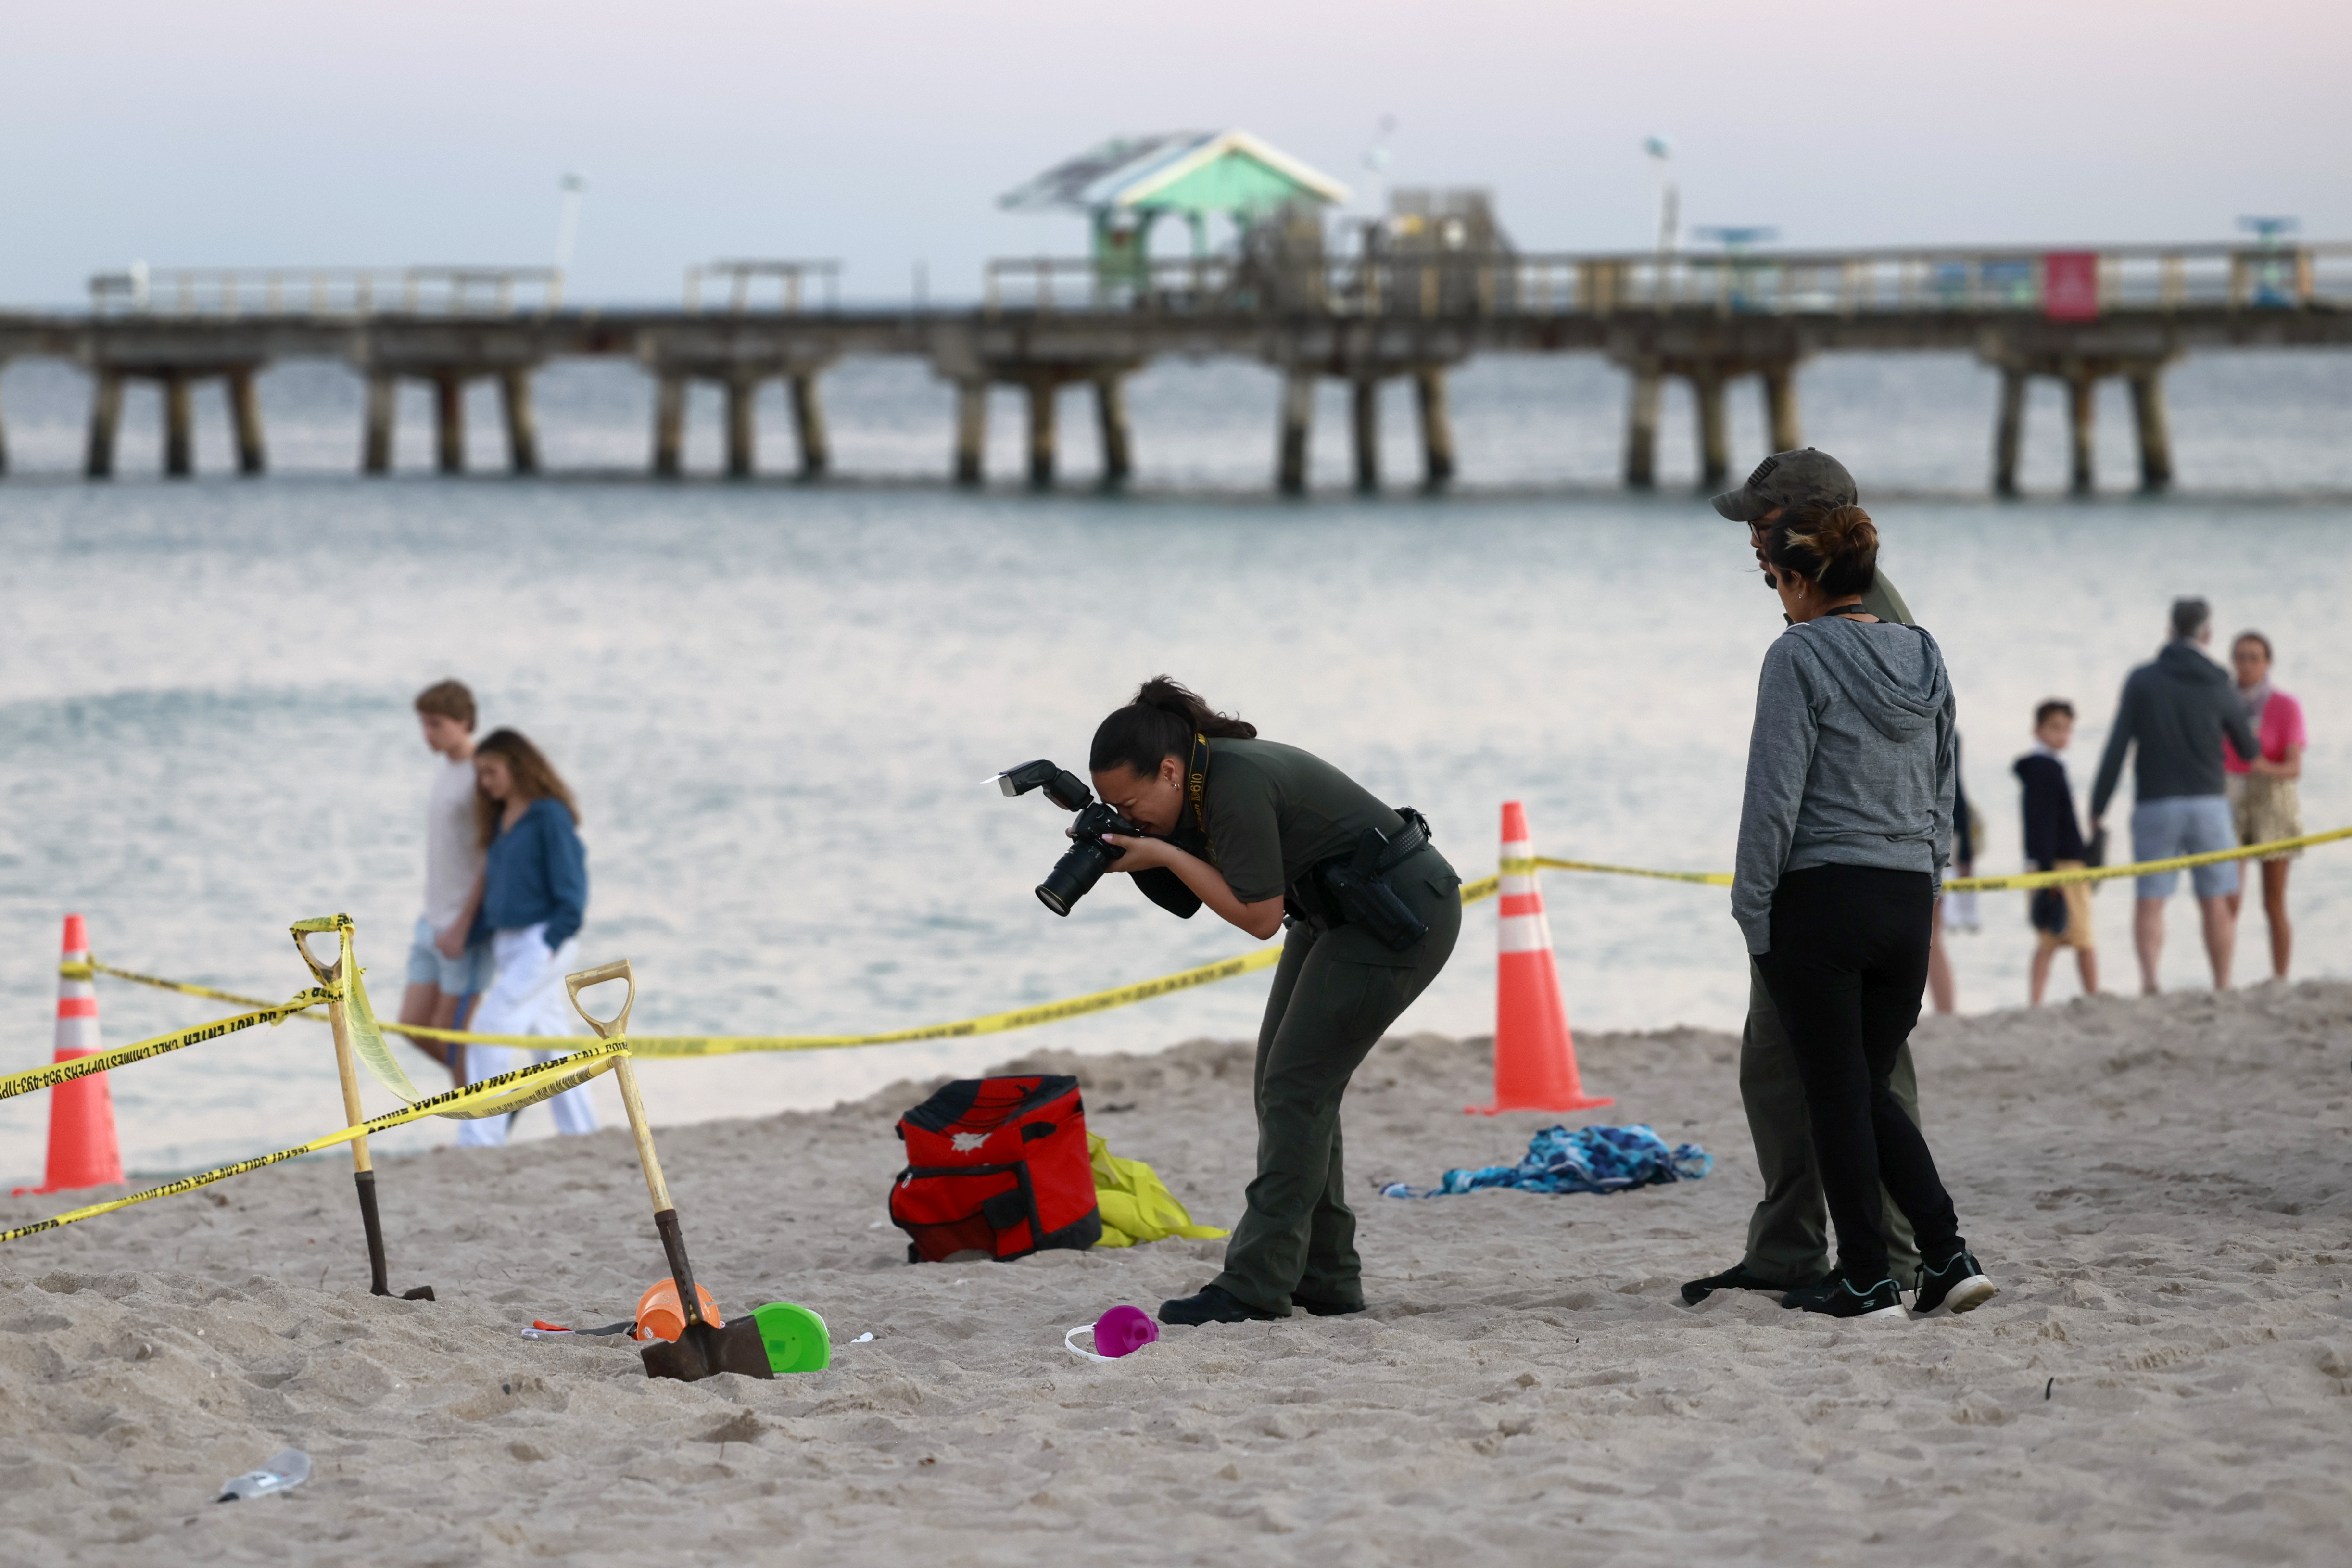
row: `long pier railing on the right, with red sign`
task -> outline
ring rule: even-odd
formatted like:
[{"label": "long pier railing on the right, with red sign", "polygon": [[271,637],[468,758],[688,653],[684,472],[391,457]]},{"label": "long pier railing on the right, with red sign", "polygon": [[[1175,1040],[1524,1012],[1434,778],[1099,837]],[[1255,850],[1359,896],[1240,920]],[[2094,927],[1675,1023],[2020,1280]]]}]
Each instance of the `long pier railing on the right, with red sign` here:
[{"label": "long pier railing on the right, with red sign", "polygon": [[2030,313],[2352,308],[2352,244],[2107,249],[1369,254],[990,261],[983,313],[1310,310],[1345,317]]}]

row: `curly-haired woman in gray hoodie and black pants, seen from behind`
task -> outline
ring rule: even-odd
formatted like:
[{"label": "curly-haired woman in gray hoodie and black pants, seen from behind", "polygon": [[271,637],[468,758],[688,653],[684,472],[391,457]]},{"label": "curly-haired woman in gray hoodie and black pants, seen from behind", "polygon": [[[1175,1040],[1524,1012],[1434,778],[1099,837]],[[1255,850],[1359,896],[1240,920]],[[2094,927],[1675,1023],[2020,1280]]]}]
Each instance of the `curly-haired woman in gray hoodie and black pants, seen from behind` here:
[{"label": "curly-haired woman in gray hoodie and black pants, seen from behind", "polygon": [[1879,531],[1858,505],[1783,515],[1764,578],[1790,628],[1764,654],[1731,914],[1788,1027],[1837,1267],[1785,1307],[1903,1316],[1879,1185],[1919,1239],[1915,1312],[1994,1295],[1919,1126],[1889,1088],[1919,1023],[1952,853],[1952,682],[1936,639],[1863,609]]}]

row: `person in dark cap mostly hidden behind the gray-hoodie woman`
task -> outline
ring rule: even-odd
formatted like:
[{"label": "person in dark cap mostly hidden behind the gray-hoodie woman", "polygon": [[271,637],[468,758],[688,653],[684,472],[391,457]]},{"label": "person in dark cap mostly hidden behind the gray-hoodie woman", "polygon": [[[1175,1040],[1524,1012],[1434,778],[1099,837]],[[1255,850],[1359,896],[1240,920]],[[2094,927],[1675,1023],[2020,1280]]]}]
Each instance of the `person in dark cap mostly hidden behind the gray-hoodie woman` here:
[{"label": "person in dark cap mostly hidden behind the gray-hoodie woman", "polygon": [[[1748,524],[1748,543],[1764,564],[1764,529],[1788,510],[1858,505],[1853,475],[1828,451],[1776,451],[1757,463],[1748,484],[1715,498],[1715,510]],[[1879,621],[1912,625],[1910,607],[1886,581],[1886,571],[1863,595],[1863,609]],[[1919,1077],[1912,1072],[1910,1041],[1896,1053],[1891,1088],[1903,1114],[1919,1124]],[[1797,1291],[1830,1272],[1830,1206],[1813,1166],[1813,1121],[1804,1110],[1804,1084],[1788,1048],[1780,1013],[1764,990],[1755,959],[1748,961],[1748,1027],[1740,1030],[1740,1105],[1748,1110],[1748,1133],[1757,1145],[1757,1171],[1764,1175],[1764,1199],[1748,1220],[1748,1255],[1722,1274],[1682,1286],[1691,1307],[1715,1291]],[[1886,1197],[1886,1262],[1905,1291],[1919,1286],[1919,1246],[1910,1220]]]}]

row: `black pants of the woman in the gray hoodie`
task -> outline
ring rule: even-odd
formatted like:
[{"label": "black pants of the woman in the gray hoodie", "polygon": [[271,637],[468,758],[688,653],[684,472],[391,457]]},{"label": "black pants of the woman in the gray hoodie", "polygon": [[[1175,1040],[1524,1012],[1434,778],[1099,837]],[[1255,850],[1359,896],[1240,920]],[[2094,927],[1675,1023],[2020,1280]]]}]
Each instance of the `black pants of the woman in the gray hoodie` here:
[{"label": "black pants of the woman in the gray hoodie", "polygon": [[1962,1248],[1936,1157],[1889,1088],[1896,1053],[1919,1023],[1931,917],[1926,872],[1788,872],[1771,900],[1771,952],[1757,961],[1804,1081],[1837,1267],[1865,1288],[1889,1276],[1879,1182],[1912,1222],[1926,1262]]}]

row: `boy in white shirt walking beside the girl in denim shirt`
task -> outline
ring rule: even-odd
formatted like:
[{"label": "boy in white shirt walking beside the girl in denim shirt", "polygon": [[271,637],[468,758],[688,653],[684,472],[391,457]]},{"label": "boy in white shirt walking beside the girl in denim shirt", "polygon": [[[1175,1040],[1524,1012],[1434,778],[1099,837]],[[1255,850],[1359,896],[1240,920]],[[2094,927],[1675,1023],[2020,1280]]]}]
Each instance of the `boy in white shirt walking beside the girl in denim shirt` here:
[{"label": "boy in white shirt walking beside the girl in denim shirt", "polygon": [[[489,940],[466,945],[473,891],[482,879],[482,844],[475,830],[473,693],[454,679],[416,693],[416,719],[426,745],[442,766],[426,795],[426,912],[409,943],[409,990],[400,999],[400,1023],[456,1030],[466,1004],[489,983]],[[442,940],[449,938],[449,940]],[[447,947],[456,947],[449,957]],[[449,1067],[466,1086],[466,1046],[414,1039],[419,1051]]]}]

